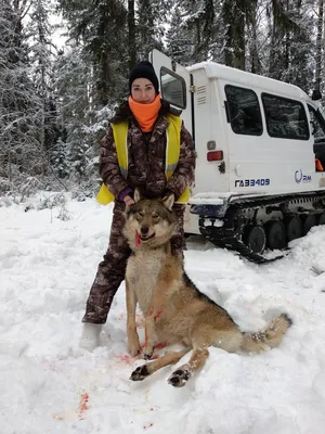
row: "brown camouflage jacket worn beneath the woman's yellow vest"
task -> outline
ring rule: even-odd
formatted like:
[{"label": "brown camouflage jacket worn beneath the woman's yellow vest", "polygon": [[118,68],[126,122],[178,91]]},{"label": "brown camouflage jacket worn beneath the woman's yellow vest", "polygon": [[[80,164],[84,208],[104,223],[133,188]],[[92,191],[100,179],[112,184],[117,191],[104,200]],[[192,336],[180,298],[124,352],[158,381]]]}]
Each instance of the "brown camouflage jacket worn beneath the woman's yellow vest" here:
[{"label": "brown camouflage jacket worn beneath the woman's yellow vest", "polygon": [[178,114],[169,103],[161,100],[161,108],[154,129],[150,133],[142,132],[132,115],[128,102],[123,102],[110,120],[118,124],[127,120],[128,129],[128,178],[120,173],[112,127],[101,141],[100,173],[109,191],[118,197],[126,189],[138,188],[146,197],[159,197],[167,191],[174,193],[178,199],[194,181],[195,157],[193,140],[182,124],[181,152],[178,166],[172,177],[167,181],[166,164],[166,129],[167,113]]}]

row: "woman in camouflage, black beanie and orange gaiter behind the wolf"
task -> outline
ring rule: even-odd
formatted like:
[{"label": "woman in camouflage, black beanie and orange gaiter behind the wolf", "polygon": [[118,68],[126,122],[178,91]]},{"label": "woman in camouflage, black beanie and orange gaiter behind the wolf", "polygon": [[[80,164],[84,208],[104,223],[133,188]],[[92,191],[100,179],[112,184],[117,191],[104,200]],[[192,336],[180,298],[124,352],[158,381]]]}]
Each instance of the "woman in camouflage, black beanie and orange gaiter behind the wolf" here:
[{"label": "woman in camouflage, black beanie and orange gaiter behind the wolf", "polygon": [[[171,178],[166,178],[166,115],[179,112],[160,98],[158,79],[150,62],[140,62],[129,77],[130,97],[117,110],[110,124],[128,122],[128,174],[125,178],[118,164],[112,126],[101,141],[100,173],[104,183],[115,196],[109,244],[91,286],[82,318],[83,331],[80,346],[93,349],[116,291],[125,279],[127,260],[131,254],[122,234],[126,205],[134,203],[132,194],[138,189],[147,199],[164,197],[173,193],[176,200],[193,183],[195,151],[190,132],[182,124],[180,157]],[[181,253],[184,246],[184,205],[174,204],[178,227],[172,238],[172,252]]]}]

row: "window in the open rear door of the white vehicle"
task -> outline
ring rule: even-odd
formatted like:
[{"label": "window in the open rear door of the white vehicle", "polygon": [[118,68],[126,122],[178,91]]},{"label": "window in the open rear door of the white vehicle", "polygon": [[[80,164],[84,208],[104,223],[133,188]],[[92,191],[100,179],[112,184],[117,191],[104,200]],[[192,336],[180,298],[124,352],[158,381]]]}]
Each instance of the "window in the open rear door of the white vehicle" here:
[{"label": "window in the open rear door of the white vehicle", "polygon": [[185,80],[161,67],[160,69],[161,97],[170,104],[180,108],[186,108],[186,84]]}]

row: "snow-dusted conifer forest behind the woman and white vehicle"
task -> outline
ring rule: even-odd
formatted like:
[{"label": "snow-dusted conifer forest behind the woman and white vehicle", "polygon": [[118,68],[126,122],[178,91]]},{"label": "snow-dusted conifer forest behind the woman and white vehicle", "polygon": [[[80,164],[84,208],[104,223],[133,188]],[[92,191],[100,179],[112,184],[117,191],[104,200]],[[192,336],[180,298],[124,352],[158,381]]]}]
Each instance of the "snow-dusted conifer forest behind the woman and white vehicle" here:
[{"label": "snow-dusted conifer forest behind the woman and white vehicle", "polygon": [[323,8],[324,0],[1,0],[0,194],[93,194],[99,141],[127,95],[130,68],[153,48],[184,66],[214,61],[322,91]]}]

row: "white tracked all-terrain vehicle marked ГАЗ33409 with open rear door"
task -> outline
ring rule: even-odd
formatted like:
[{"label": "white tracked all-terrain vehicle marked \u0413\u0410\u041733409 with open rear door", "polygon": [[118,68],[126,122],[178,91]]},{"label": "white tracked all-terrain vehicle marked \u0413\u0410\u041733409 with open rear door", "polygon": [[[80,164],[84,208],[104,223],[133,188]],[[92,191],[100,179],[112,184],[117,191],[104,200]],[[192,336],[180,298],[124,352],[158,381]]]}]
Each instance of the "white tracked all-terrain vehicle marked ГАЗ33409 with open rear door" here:
[{"label": "white tracked all-terrain vehicle marked \u0413\u0410\u041733409 with open rear door", "polygon": [[151,53],[162,98],[182,110],[197,152],[185,232],[264,263],[325,224],[320,95],[213,62]]}]

